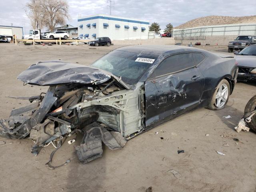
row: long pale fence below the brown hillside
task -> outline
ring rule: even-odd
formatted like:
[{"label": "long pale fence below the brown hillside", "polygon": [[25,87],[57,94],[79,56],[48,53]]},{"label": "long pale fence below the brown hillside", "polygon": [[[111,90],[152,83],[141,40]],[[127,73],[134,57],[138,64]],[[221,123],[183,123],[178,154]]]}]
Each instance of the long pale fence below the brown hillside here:
[{"label": "long pale fence below the brown hillside", "polygon": [[206,39],[207,36],[256,36],[256,23],[240,23],[226,25],[200,26],[186,29],[174,29],[172,36],[175,39]]}]

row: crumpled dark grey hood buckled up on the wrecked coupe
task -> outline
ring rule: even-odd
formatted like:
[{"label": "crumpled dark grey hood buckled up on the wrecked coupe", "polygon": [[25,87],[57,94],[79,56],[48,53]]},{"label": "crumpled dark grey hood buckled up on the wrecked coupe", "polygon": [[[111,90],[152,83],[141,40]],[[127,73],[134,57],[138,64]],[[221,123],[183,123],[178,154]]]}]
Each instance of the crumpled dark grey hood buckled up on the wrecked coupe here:
[{"label": "crumpled dark grey hood buckled up on the wrecked coupe", "polygon": [[110,78],[116,79],[124,88],[130,88],[110,72],[61,60],[38,62],[18,76],[18,80],[38,86],[54,86],[68,83],[101,84]]}]

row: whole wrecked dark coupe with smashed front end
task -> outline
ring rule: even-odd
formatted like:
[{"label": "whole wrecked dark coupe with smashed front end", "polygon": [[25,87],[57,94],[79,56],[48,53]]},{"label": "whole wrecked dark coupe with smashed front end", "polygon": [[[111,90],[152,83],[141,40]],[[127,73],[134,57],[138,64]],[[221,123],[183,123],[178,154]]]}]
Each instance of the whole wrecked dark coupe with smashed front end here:
[{"label": "whole wrecked dark coupe with smashed front end", "polygon": [[31,138],[37,155],[42,146],[56,140],[57,150],[63,137],[80,132],[76,153],[87,163],[102,156],[102,142],[122,148],[189,110],[224,108],[236,76],[233,57],[184,46],[126,46],[91,66],[38,62],[18,79],[48,91],[0,120],[0,135]]}]

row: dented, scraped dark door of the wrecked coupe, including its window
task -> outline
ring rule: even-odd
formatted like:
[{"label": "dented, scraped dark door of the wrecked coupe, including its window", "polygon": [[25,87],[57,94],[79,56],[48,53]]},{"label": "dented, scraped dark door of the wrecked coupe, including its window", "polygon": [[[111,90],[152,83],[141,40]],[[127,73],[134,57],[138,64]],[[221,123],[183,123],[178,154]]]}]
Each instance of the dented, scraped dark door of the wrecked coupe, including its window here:
[{"label": "dented, scraped dark door of the wrecked coupe, including its window", "polygon": [[198,106],[203,90],[192,53],[164,59],[145,82],[146,129]]}]

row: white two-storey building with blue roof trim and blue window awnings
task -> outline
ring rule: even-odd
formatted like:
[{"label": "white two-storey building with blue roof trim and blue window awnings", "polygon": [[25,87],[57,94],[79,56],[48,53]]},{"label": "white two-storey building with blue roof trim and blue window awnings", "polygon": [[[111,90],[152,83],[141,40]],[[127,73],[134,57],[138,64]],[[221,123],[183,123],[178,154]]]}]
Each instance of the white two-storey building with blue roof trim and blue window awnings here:
[{"label": "white two-storey building with blue roof trim and blue window awnings", "polygon": [[78,19],[78,35],[91,39],[148,39],[148,30],[149,22],[131,18],[99,14]]}]

